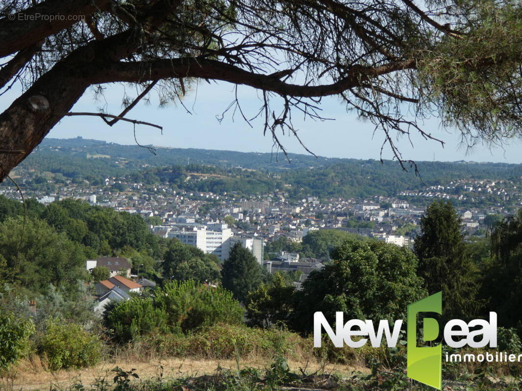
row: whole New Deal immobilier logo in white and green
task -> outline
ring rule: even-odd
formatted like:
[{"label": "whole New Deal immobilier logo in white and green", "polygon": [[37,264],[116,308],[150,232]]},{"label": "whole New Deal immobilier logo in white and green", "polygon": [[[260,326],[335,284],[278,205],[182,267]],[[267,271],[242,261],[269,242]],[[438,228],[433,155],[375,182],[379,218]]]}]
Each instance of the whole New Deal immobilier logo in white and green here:
[{"label": "whole New Deal immobilier logo in white and green", "polygon": [[[407,311],[407,376],[413,380],[442,389],[442,345],[438,346],[419,346],[417,340],[417,315],[423,312],[431,312],[442,315],[442,292],[428,296],[422,300],[409,304]],[[352,347],[360,348],[364,346],[368,339],[373,347],[381,346],[383,334],[386,338],[388,347],[395,347],[399,338],[402,320],[395,321],[393,330],[390,331],[389,323],[386,320],[379,321],[377,331],[373,321],[351,319],[344,323],[343,312],[336,312],[336,332],[334,333],[322,312],[314,314],[314,347],[321,347],[321,328],[330,337],[335,347],[343,347],[343,343]],[[419,317],[419,319],[421,319]],[[439,324],[433,317],[423,317],[423,342],[434,341],[439,332]],[[474,329],[475,327],[479,327]],[[470,328],[473,330],[470,331]],[[353,336],[367,337],[357,341]],[[476,340],[481,336],[480,340]],[[482,319],[474,319],[466,323],[460,319],[453,319],[444,326],[444,342],[452,348],[461,348],[468,345],[471,348],[482,348],[489,344],[491,348],[496,348],[496,312],[490,312],[489,322]],[[491,353],[487,353],[487,361],[493,361]],[[496,355],[496,360],[499,353]],[[503,359],[505,355],[505,359]],[[453,355],[452,355],[453,356]],[[455,355],[459,356],[459,355]],[[468,356],[469,361],[475,361],[473,355]],[[472,360],[471,360],[471,356]],[[480,358],[482,356],[482,359]],[[491,360],[490,360],[491,356]],[[513,356],[513,357],[512,357]],[[509,361],[515,361],[515,355],[509,356]],[[477,356],[478,361],[484,361],[484,355]],[[518,356],[518,361],[522,355]],[[448,357],[446,355],[446,361]],[[451,361],[451,360],[450,360]],[[507,361],[507,353],[500,353],[500,361]]]}]

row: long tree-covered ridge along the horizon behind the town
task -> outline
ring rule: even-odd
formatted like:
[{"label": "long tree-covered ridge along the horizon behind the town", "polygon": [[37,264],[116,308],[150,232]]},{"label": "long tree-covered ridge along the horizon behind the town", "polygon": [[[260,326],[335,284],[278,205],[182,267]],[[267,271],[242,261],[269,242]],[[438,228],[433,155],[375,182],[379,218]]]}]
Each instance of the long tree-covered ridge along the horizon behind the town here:
[{"label": "long tree-covered ridge along the horizon behind the town", "polygon": [[[59,145],[61,142],[63,146]],[[15,173],[21,176],[23,186],[48,192],[56,190],[53,183],[59,185],[70,180],[100,187],[104,186],[105,178],[114,177],[125,183],[152,186],[163,182],[174,189],[236,192],[245,196],[279,189],[294,199],[308,195],[396,196],[405,190],[419,191],[425,186],[447,186],[470,179],[509,180],[518,186],[522,177],[522,165],[506,163],[417,162],[419,175],[416,175],[414,170],[405,172],[394,161],[381,163],[372,159],[295,155],[291,164],[280,160],[276,165],[270,154],[161,148],[157,153],[152,155],[136,145],[51,139],[43,142],[40,150],[23,161]],[[491,202],[498,202],[493,194],[488,197]]]}]

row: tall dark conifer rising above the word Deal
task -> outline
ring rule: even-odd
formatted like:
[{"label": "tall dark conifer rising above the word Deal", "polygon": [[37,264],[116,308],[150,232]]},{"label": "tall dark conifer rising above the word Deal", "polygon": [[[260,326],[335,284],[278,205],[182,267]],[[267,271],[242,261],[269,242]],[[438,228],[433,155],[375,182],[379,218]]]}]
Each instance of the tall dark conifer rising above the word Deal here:
[{"label": "tall dark conifer rising above the word Deal", "polygon": [[466,251],[460,223],[450,201],[435,201],[421,217],[421,235],[413,245],[419,258],[418,274],[430,295],[442,291],[447,319],[466,319],[478,310],[476,268]]}]

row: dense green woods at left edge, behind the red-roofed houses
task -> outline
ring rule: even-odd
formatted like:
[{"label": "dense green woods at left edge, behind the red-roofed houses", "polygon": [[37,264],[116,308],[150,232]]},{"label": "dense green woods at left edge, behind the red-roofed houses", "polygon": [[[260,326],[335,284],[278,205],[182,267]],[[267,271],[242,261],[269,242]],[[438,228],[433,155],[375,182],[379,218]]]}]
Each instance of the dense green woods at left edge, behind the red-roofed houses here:
[{"label": "dense green woods at left edge, behind the red-roofed houses", "polygon": [[[158,276],[165,241],[153,235],[140,215],[91,206],[74,199],[44,206],[0,196],[0,276],[31,295],[49,284],[76,289],[88,281],[87,259],[125,256],[140,272]],[[133,267],[135,270],[135,267]]]}]

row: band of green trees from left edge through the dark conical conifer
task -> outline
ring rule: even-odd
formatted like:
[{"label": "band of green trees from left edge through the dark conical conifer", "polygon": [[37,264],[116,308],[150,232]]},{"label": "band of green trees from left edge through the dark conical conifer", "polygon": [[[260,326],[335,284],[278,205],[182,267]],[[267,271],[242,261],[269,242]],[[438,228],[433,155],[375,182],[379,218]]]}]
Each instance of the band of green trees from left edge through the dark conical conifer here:
[{"label": "band of green trees from left edge through the dark conical conifer", "polygon": [[[87,259],[99,256],[127,258],[132,271],[163,284],[189,280],[227,285],[220,261],[197,247],[177,239],[163,239],[150,232],[138,214],[116,212],[87,202],[65,199],[48,206],[30,199],[21,202],[0,195],[0,277],[22,289],[29,297],[46,294],[50,285],[75,295],[78,280],[88,282]],[[253,279],[251,285],[232,288],[236,297],[266,280],[266,270],[250,251],[235,249],[229,279]],[[228,267],[224,265],[225,269]],[[93,275],[103,276],[99,270]],[[97,281],[94,281],[95,283]]]}]

